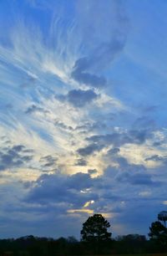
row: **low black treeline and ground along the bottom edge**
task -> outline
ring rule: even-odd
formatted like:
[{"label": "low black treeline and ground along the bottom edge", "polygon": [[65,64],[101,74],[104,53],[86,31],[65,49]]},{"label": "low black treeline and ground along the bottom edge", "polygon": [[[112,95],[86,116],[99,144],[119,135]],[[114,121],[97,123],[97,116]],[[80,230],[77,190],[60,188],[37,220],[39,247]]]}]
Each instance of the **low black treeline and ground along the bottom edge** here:
[{"label": "low black treeline and ground along the bottom edge", "polygon": [[0,240],[0,255],[65,256],[93,254],[164,253],[166,245],[139,234],[119,236],[106,242],[78,241],[76,238],[37,238],[32,235]]}]

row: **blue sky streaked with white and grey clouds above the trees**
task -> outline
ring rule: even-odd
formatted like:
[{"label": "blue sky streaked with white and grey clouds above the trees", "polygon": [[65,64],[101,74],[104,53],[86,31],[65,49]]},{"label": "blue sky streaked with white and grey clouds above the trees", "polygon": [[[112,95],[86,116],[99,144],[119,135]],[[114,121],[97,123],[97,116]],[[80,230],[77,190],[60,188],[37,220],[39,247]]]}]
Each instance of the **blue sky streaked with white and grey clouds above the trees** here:
[{"label": "blue sky streaked with white and grey clouds above the trees", "polygon": [[167,210],[167,2],[0,1],[0,238],[113,237]]}]

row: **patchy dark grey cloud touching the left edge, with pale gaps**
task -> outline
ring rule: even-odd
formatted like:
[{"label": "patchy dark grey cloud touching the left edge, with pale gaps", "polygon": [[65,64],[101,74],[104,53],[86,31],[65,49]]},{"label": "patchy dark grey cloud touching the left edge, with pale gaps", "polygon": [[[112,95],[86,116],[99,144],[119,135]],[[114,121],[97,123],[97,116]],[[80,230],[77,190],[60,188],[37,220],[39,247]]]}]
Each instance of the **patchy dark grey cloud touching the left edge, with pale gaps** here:
[{"label": "patchy dark grey cloud touching the left edge, with pale gaps", "polygon": [[[7,168],[22,166],[33,159],[23,145],[3,147],[0,151],[0,171]],[[31,152],[32,153],[32,152]]]}]

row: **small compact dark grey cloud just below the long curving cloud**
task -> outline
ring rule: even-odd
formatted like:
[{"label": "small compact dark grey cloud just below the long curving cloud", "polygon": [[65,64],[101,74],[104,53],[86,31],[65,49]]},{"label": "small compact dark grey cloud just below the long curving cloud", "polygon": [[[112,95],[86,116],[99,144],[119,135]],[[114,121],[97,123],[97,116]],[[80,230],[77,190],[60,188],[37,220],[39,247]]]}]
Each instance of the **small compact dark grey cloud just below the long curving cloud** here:
[{"label": "small compact dark grey cloud just below the long curving cloud", "polygon": [[74,107],[81,108],[97,99],[97,97],[98,95],[94,90],[70,90],[67,95],[67,100]]}]

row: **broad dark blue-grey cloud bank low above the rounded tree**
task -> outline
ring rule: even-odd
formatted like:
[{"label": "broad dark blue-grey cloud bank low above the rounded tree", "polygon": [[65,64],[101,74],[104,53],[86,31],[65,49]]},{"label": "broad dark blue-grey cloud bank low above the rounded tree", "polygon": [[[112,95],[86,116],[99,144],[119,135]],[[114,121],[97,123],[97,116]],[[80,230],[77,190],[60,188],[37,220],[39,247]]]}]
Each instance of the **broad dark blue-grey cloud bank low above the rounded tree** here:
[{"label": "broad dark blue-grey cloud bank low above the rounded tree", "polygon": [[[65,203],[66,209],[82,208],[86,202],[94,200],[91,209],[97,211],[101,207],[113,202],[130,200],[131,192],[135,190],[133,197],[139,197],[142,187],[156,189],[162,185],[154,175],[150,175],[144,166],[131,165],[125,159],[119,158],[119,166],[109,166],[103,175],[91,177],[97,174],[97,170],[88,170],[88,173],[78,172],[67,176],[57,172],[44,174],[33,182],[25,202],[49,205],[52,202]],[[105,184],[105,186],[104,186]],[[127,184],[129,190],[126,189]],[[117,198],[117,201],[115,201]]]}]

